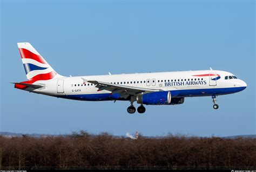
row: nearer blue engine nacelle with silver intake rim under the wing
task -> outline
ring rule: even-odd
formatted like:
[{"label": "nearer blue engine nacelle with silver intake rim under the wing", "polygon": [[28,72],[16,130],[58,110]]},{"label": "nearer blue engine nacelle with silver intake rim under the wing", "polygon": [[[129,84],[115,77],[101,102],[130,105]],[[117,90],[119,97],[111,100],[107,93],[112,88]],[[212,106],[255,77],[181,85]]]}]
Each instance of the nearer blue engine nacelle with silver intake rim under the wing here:
[{"label": "nearer blue engine nacelle with silver intake rim under the wing", "polygon": [[137,103],[145,105],[168,105],[171,100],[170,91],[152,92],[137,96]]}]

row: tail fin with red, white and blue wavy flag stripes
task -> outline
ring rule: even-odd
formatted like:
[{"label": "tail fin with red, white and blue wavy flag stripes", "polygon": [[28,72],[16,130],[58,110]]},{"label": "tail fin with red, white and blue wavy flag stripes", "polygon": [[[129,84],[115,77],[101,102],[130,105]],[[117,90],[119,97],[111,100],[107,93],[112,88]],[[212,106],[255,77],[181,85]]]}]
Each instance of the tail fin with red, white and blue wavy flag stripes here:
[{"label": "tail fin with red, white and blue wavy flag stripes", "polygon": [[53,70],[30,43],[18,43],[18,48],[29,81],[63,77]]}]

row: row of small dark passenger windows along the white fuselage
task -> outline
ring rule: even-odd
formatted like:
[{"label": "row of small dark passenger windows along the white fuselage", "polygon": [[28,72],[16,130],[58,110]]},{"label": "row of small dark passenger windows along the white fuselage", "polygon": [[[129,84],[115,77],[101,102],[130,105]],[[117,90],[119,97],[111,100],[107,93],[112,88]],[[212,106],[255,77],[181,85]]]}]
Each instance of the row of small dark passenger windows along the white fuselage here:
[{"label": "row of small dark passenger windows along the white fuselage", "polygon": [[[235,77],[235,76],[233,76],[233,77]],[[236,78],[236,77],[235,77],[235,78]],[[226,79],[226,77],[225,77],[225,79]],[[179,82],[179,81],[190,81],[190,80],[191,80],[191,81],[193,81],[193,80],[196,81],[196,80],[200,80],[200,78],[198,78],[198,79],[196,79],[196,78],[194,78],[194,79],[171,79],[171,80],[170,80],[170,79],[168,79],[168,80],[165,79],[165,80],[158,80],[158,82],[163,82],[163,81],[164,81],[164,82],[166,82],[166,81],[168,81],[168,82],[170,82],[170,81],[171,81],[171,82],[173,82],[173,81],[174,81],[174,82],[178,81],[178,82]],[[201,78],[201,80],[203,80],[203,78]],[[136,84],[136,83],[137,83],[137,84],[139,84],[139,83],[142,84],[142,83],[146,83],[146,82],[147,82],[147,83],[150,83],[150,80],[147,80],[147,81],[130,81],[130,82],[129,82],[129,81],[127,81],[127,82],[111,82],[111,84]],[[155,80],[152,80],[152,82],[154,83]],[[87,85],[87,86],[90,86],[90,85],[92,86],[92,85],[95,85],[95,84],[75,84],[75,87],[76,87],[76,86],[83,86],[83,85],[84,85],[84,86],[86,86],[86,85]],[[71,84],[71,86],[73,86],[73,84]]]}]

